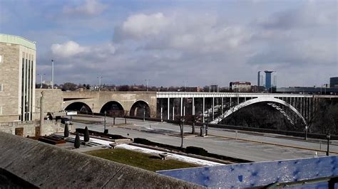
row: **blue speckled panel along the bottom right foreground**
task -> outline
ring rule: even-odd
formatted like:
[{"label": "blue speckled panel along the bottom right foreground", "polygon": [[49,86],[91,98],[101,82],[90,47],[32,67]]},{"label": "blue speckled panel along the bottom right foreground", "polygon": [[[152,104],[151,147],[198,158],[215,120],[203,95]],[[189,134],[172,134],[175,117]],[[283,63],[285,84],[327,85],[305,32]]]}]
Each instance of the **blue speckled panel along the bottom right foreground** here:
[{"label": "blue speckled panel along the bottom right foreground", "polygon": [[338,156],[183,168],[158,171],[158,173],[206,187],[261,187],[272,183],[290,183],[337,176]]}]

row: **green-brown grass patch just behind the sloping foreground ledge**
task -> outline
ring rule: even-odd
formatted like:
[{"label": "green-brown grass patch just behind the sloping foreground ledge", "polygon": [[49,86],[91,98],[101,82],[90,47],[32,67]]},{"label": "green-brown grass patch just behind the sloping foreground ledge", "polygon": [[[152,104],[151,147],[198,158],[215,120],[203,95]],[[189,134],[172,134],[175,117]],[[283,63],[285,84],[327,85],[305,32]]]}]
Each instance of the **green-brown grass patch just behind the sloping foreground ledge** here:
[{"label": "green-brown grass patch just behind the sloping foreground ledge", "polygon": [[174,168],[198,167],[193,163],[186,163],[173,159],[161,160],[159,156],[153,156],[148,153],[140,153],[121,148],[102,149],[98,151],[89,151],[87,154],[99,158],[105,158],[129,166],[142,168],[148,171],[160,171]]}]

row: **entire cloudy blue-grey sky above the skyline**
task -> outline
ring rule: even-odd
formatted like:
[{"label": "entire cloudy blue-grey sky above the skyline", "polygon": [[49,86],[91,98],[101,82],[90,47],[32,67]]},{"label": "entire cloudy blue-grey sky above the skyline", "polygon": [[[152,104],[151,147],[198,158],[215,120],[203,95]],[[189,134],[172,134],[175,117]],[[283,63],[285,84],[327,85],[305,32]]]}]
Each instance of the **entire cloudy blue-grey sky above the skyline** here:
[{"label": "entire cloudy blue-grey sky above the skyline", "polygon": [[98,85],[320,86],[338,76],[336,0],[0,0],[0,33],[36,41],[36,73]]}]

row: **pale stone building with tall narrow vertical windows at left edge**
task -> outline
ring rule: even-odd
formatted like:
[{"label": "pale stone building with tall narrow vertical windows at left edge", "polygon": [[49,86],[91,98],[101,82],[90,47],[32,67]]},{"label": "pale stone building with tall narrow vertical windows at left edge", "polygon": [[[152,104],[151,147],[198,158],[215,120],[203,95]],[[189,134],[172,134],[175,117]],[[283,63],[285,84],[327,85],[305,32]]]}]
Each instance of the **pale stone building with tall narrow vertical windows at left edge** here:
[{"label": "pale stone building with tall narrow vertical windows at left edge", "polygon": [[35,75],[36,43],[0,33],[0,122],[34,119]]}]

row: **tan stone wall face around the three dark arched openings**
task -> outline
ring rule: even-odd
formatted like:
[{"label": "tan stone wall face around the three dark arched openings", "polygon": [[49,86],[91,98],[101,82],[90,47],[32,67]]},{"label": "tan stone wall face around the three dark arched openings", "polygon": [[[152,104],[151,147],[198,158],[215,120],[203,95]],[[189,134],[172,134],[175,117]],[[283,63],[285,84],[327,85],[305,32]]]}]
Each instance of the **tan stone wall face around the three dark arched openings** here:
[{"label": "tan stone wall face around the three dark arched openings", "polygon": [[63,92],[63,99],[63,109],[73,102],[83,102],[95,113],[99,113],[103,105],[111,101],[120,103],[127,111],[130,111],[135,102],[144,101],[150,107],[150,117],[156,117],[156,92],[72,91]]}]

